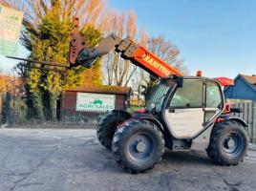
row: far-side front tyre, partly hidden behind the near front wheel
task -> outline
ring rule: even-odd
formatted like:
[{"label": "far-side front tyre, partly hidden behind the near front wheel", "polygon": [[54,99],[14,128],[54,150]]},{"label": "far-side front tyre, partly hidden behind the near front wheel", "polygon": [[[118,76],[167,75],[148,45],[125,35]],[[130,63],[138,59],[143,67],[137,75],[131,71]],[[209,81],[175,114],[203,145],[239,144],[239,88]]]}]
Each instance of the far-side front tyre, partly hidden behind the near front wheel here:
[{"label": "far-side front tyre, partly hidden behind the near front wheel", "polygon": [[111,150],[112,138],[117,130],[117,125],[128,119],[130,116],[123,112],[110,112],[101,118],[97,127],[96,135],[99,142],[107,149]]}]

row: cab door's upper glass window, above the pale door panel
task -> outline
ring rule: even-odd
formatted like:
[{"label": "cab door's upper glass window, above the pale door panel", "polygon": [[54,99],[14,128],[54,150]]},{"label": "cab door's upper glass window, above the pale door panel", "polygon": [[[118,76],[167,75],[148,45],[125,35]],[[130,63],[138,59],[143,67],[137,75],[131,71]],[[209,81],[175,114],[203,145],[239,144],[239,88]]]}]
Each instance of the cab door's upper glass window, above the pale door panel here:
[{"label": "cab door's upper glass window, above the pale door panel", "polygon": [[203,107],[203,81],[185,79],[170,102],[171,108]]}]

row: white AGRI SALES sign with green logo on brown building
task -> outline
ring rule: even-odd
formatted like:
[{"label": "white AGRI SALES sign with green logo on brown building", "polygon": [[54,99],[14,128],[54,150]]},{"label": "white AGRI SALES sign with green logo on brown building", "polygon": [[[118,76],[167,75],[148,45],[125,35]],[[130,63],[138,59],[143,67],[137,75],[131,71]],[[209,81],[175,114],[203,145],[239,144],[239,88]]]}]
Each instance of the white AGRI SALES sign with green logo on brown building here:
[{"label": "white AGRI SALES sign with green logo on brown building", "polygon": [[115,109],[115,102],[115,95],[77,93],[76,111],[107,112]]}]

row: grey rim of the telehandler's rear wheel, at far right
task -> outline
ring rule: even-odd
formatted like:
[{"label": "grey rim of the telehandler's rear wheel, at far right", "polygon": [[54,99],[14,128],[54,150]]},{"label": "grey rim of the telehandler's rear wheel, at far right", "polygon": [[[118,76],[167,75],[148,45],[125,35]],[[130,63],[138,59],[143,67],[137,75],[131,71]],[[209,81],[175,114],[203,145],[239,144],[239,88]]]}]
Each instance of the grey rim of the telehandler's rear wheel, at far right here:
[{"label": "grey rim of the telehandler's rear wheel, at far right", "polygon": [[237,133],[229,133],[224,138],[223,148],[229,158],[237,158],[243,151],[243,138]]}]

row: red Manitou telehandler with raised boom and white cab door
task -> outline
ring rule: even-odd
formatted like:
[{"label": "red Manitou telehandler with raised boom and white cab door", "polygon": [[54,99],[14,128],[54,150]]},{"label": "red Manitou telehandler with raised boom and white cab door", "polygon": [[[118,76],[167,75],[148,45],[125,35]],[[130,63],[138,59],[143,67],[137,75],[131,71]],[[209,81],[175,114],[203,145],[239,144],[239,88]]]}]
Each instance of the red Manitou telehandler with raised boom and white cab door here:
[{"label": "red Manitou telehandler with raised boom and white cab door", "polygon": [[232,85],[232,80],[207,78],[200,73],[183,76],[129,37],[120,39],[115,34],[103,38],[90,50],[75,19],[70,67],[91,68],[98,57],[111,50],[160,78],[145,109],[132,115],[111,111],[96,128],[99,142],[112,149],[120,167],[131,173],[145,172],[160,161],[165,147],[172,151],[203,150],[222,165],[243,161],[248,147],[247,124],[241,118],[229,116],[241,110],[229,108],[224,102],[223,86]]}]

